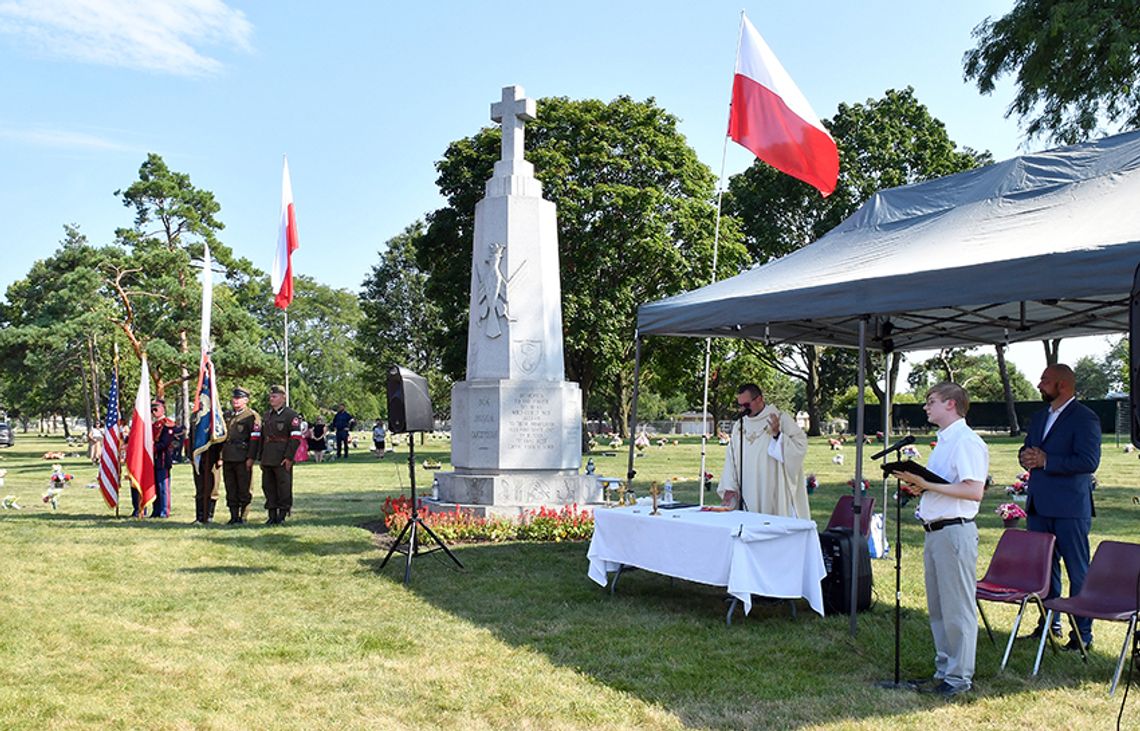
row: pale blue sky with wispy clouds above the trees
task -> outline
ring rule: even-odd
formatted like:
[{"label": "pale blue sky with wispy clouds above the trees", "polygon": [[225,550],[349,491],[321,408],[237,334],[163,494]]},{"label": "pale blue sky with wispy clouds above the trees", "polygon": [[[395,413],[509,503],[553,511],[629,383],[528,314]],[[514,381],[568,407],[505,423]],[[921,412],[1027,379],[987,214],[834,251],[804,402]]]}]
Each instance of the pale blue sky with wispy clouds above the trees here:
[{"label": "pale blue sky with wispy clouds above the trees", "polygon": [[[294,269],[357,291],[383,243],[440,205],[448,143],[490,124],[514,83],[654,97],[718,172],[741,9],[821,117],[912,86],[959,145],[999,160],[1048,146],[1023,147],[1004,119],[1010,84],[983,97],[962,81],[970,31],[1011,0],[781,5],[0,0],[0,291],[65,224],[96,244],[129,226],[114,190],[149,152],[214,193],[222,241],[266,271],[287,154]],[[750,162],[728,146],[727,174]],[[1035,379],[1042,349],[1011,359]]]}]

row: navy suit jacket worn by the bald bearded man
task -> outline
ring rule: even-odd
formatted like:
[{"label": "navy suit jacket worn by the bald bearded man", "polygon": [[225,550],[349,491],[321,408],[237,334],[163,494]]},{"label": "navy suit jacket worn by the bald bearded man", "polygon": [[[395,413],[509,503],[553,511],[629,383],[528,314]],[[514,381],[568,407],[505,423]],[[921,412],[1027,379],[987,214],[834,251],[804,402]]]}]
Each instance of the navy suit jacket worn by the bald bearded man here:
[{"label": "navy suit jacket worn by the bald bearded man", "polygon": [[1025,445],[1045,452],[1045,468],[1029,471],[1029,514],[1045,518],[1091,518],[1092,473],[1100,465],[1100,419],[1084,404],[1073,401],[1042,437],[1049,409],[1029,421]]}]

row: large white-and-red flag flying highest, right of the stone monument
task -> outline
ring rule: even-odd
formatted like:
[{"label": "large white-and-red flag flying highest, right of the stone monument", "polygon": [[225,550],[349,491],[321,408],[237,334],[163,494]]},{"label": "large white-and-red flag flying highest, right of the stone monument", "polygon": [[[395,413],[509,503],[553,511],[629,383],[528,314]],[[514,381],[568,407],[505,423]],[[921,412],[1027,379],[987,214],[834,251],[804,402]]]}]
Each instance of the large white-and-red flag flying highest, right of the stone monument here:
[{"label": "large white-and-red flag flying highest, right of the stone monument", "polygon": [[756,26],[742,18],[728,136],[776,170],[836,189],[839,151]]}]

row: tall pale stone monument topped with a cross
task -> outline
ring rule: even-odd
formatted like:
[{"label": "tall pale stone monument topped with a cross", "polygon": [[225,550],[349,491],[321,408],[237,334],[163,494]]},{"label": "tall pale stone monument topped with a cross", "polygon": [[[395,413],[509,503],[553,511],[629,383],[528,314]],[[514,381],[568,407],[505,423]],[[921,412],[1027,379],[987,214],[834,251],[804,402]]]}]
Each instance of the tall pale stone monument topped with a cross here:
[{"label": "tall pale stone monument topped with a cross", "polygon": [[518,514],[586,503],[581,391],[565,380],[555,208],[523,159],[535,101],[506,87],[491,105],[503,157],[475,205],[467,377],[451,387],[451,464],[439,499]]}]

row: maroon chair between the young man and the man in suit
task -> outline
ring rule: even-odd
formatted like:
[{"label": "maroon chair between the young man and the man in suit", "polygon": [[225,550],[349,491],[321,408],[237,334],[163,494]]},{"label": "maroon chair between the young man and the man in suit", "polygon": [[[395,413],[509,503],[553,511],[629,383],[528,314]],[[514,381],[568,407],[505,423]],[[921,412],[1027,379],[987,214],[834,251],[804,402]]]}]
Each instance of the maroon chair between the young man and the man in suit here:
[{"label": "maroon chair between the young man and the man in suit", "polygon": [[1013,650],[1013,640],[1017,639],[1018,627],[1021,626],[1026,604],[1032,601],[1036,604],[1042,619],[1045,617],[1045,607],[1042,601],[1049,594],[1049,572],[1052,569],[1053,543],[1056,541],[1057,538],[1051,533],[1031,533],[1017,528],[1005,530],[997,541],[993,558],[990,559],[986,575],[978,582],[975,602],[978,606],[978,612],[982,614],[982,622],[986,626],[990,642],[994,645],[997,644],[997,641],[994,640],[994,633],[990,628],[990,619],[986,617],[986,610],[982,608],[982,602],[1018,604],[1013,630],[1005,644],[1005,655],[1001,658],[1001,669],[1005,669],[1009,653]]}]

